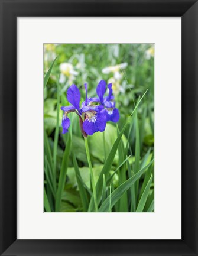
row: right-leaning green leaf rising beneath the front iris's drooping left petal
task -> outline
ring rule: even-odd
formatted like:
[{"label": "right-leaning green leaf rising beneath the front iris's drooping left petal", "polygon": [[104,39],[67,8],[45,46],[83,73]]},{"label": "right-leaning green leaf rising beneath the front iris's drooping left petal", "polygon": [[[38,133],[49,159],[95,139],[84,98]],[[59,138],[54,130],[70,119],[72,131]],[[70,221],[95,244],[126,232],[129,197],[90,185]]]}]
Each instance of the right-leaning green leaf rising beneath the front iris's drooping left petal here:
[{"label": "right-leaning green leaf rising beneath the front iris's drooping left petal", "polygon": [[67,167],[68,167],[68,161],[69,161],[70,146],[71,146],[71,135],[69,133],[68,139],[67,139],[67,145],[63,154],[63,161],[61,164],[60,174],[59,174],[59,184],[57,188],[56,204],[55,204],[56,212],[60,211],[61,198],[63,195],[64,184],[66,183],[66,174],[67,174]]}]

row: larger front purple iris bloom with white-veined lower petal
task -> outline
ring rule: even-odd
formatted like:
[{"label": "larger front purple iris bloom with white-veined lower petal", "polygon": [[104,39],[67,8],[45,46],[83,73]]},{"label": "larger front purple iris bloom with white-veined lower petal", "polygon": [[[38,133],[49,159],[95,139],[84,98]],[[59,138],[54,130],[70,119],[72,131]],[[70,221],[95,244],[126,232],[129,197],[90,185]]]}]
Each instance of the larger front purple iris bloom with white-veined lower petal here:
[{"label": "larger front purple iris bloom with white-veined lower petal", "polygon": [[106,127],[106,114],[103,113],[103,106],[92,105],[89,106],[91,98],[87,98],[87,84],[85,84],[86,100],[82,103],[80,108],[80,90],[76,85],[71,85],[67,90],[67,101],[71,106],[62,106],[64,111],[62,119],[63,134],[68,132],[70,127],[70,119],[67,114],[75,112],[79,115],[80,129],[84,137],[87,135],[93,135],[95,132],[103,132]]}]

